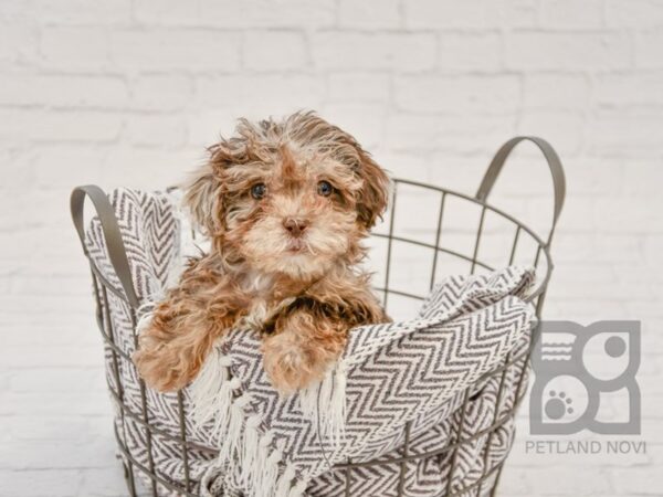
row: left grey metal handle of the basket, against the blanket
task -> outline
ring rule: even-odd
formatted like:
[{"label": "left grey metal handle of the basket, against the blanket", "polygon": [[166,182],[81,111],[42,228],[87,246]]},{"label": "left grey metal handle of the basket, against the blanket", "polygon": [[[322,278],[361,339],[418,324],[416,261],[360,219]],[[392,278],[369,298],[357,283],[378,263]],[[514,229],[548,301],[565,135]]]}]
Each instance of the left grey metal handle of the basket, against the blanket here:
[{"label": "left grey metal handle of the basket, against the blanket", "polygon": [[122,233],[119,231],[119,225],[117,224],[117,219],[115,218],[115,210],[113,209],[113,205],[110,205],[108,197],[106,193],[104,193],[104,190],[94,184],[74,188],[70,199],[72,221],[74,222],[74,228],[78,233],[78,239],[81,240],[81,245],[83,246],[83,253],[90,258],[87,247],[85,246],[85,222],[83,219],[83,207],[86,197],[90,198],[96,210],[97,216],[102,224],[104,240],[106,241],[108,257],[110,258],[110,264],[113,265],[115,274],[117,275],[117,278],[119,279],[119,283],[124,289],[125,296],[127,297],[129,305],[133,307],[138,307],[138,297],[136,296],[136,290],[134,289],[134,282],[131,279],[131,269],[129,268],[127,251],[122,241]]}]

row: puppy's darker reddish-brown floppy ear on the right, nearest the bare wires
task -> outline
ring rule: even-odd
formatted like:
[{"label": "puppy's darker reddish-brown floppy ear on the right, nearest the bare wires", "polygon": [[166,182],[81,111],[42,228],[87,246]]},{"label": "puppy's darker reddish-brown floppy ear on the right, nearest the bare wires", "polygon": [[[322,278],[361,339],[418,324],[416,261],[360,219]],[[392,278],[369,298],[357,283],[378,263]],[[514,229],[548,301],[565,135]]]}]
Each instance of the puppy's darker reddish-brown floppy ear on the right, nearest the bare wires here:
[{"label": "puppy's darker reddish-brown floppy ear on the right, nearest the bare wires", "polygon": [[357,172],[362,181],[357,200],[357,212],[359,221],[367,229],[370,229],[387,209],[387,203],[389,202],[389,178],[368,152],[359,147],[357,149],[359,152]]}]

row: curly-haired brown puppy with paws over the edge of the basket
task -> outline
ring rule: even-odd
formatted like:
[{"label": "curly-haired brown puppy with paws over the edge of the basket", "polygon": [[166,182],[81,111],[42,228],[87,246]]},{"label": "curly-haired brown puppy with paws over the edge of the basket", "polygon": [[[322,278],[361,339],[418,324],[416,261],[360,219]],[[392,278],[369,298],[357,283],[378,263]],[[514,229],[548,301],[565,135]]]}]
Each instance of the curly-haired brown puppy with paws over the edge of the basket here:
[{"label": "curly-haired brown puppy with paws over the edge of the basket", "polygon": [[240,120],[209,151],[185,202],[212,250],[157,306],[134,360],[150,387],[178,390],[214,340],[249,325],[262,334],[274,387],[305,388],[340,356],[350,328],[388,319],[357,268],[388,178],[313,113]]}]

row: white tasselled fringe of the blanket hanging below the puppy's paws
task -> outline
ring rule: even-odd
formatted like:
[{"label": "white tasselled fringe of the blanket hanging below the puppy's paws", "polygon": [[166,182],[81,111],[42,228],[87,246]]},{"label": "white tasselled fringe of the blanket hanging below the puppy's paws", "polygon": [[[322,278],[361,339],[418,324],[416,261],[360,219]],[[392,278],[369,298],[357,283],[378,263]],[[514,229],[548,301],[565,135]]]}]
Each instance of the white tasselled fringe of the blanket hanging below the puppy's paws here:
[{"label": "white tasselled fringe of the blanket hanging below the puppy's paws", "polygon": [[[274,442],[274,432],[263,432],[262,415],[251,413],[251,394],[244,392],[238,396],[242,383],[239,378],[231,378],[231,366],[230,357],[214,347],[191,385],[196,425],[199,430],[207,425],[207,435],[211,433],[219,446],[215,467],[229,469],[232,463],[235,477],[251,496],[303,496],[309,478],[297,474],[292,463],[280,473],[286,441]],[[344,436],[345,385],[346,367],[339,363],[323,382],[301,395],[303,412],[315,420],[320,436],[332,442]],[[211,432],[210,422],[213,422]]]}]

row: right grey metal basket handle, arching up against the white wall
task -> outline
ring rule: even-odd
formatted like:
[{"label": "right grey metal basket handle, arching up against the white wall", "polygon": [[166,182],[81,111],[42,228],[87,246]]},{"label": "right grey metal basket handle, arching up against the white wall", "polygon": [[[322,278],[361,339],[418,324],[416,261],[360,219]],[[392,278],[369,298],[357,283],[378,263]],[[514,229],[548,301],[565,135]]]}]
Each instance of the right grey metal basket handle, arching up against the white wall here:
[{"label": "right grey metal basket handle, arching up against the white wall", "polygon": [[476,200],[481,202],[485,202],[495,184],[495,180],[499,176],[502,168],[504,167],[504,162],[511,155],[512,150],[518,145],[520,141],[532,141],[536,145],[539,150],[544,154],[546,161],[548,162],[548,167],[550,168],[550,173],[552,175],[552,188],[555,194],[555,205],[552,209],[552,225],[550,226],[550,232],[548,233],[548,239],[546,242],[546,246],[550,245],[552,241],[552,234],[555,233],[555,226],[557,225],[557,220],[559,219],[559,213],[561,212],[561,208],[564,207],[564,200],[566,198],[566,179],[564,176],[564,168],[561,166],[561,161],[559,160],[559,156],[552,148],[550,144],[548,144],[545,139],[538,138],[536,136],[517,136],[512,138],[506,144],[504,144],[486,170],[486,173],[481,181],[481,186],[476,192]]}]

